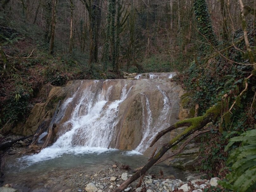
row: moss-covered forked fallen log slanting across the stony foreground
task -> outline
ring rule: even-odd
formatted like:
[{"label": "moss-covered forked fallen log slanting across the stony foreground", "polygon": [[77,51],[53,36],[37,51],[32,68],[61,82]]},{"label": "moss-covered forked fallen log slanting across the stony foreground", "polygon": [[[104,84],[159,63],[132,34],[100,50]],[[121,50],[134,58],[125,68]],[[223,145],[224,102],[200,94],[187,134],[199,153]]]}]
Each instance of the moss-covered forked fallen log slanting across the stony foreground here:
[{"label": "moss-covered forked fallen log slanting across the stony foreground", "polygon": [[181,134],[177,135],[169,141],[168,144],[164,145],[156,155],[150,159],[150,161],[140,170],[138,170],[133,176],[129,177],[124,183],[122,183],[117,189],[115,189],[113,192],[121,192],[124,190],[129,184],[134,182],[136,179],[141,177],[141,175],[145,174],[146,171],[149,170],[150,167],[152,167],[170,148],[177,145],[180,141],[188,137],[189,135],[192,135],[197,130],[202,129],[205,125],[212,121],[216,121],[217,117],[221,114],[221,104],[217,104],[210,109],[208,109],[204,116],[200,117],[193,117],[191,119],[186,119],[179,121],[175,123],[174,127],[179,128],[183,127],[184,124],[189,124],[189,127],[186,128]]}]

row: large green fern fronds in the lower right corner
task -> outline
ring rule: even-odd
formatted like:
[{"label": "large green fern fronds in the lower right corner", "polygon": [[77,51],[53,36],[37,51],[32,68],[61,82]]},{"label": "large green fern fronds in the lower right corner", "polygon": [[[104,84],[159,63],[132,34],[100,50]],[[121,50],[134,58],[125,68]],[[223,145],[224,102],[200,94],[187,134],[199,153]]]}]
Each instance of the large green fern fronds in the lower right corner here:
[{"label": "large green fern fronds in the lower right corner", "polygon": [[227,161],[233,171],[227,175],[228,181],[218,183],[237,192],[252,192],[256,185],[256,129],[229,139],[225,151],[236,142],[241,145],[230,153]]}]

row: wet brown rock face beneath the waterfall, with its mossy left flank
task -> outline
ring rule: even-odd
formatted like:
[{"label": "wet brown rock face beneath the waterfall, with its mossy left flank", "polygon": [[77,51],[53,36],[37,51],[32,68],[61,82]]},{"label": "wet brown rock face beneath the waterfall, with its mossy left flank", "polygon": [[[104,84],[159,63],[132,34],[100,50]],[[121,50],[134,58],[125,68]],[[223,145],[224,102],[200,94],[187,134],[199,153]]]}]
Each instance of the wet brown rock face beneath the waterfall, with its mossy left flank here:
[{"label": "wet brown rock face beneath the waterfall, with its mossy left flank", "polygon": [[[147,74],[139,80],[70,81],[66,87],[52,87],[46,102],[34,106],[23,134],[31,135],[42,122],[49,123],[61,100],[54,141],[80,126],[70,136],[70,145],[132,150],[143,141],[141,147],[146,149],[152,134],[178,121],[183,90],[168,79],[169,75]],[[147,153],[151,154],[150,150]]]}]

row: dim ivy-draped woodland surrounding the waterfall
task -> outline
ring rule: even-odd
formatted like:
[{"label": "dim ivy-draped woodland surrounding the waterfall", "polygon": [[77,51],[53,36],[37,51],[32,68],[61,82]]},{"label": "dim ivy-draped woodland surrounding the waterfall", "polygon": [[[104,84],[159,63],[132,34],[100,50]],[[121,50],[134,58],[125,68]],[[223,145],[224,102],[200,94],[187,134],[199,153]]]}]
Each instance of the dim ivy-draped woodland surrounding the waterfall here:
[{"label": "dim ivy-draped woodland surrounding the waterfall", "polygon": [[[0,0],[0,54],[1,143],[29,136],[25,122],[52,87],[175,72],[171,81],[185,90],[180,105],[189,114],[156,132],[150,147],[186,128],[113,190],[142,181],[180,142],[196,141],[196,171],[220,178],[205,192],[256,191],[255,0]],[[54,112],[65,96],[48,107]],[[3,182],[9,149],[0,150]]]}]

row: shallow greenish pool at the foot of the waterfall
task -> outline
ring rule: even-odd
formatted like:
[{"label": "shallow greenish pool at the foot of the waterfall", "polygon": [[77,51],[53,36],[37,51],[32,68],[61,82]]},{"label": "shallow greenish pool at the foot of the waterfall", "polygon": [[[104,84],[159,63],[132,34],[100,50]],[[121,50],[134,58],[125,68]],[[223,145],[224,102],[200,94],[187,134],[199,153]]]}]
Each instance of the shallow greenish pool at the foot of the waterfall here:
[{"label": "shallow greenish pool at the foot of the waterfall", "polygon": [[[132,155],[133,154],[133,155]],[[147,157],[132,152],[120,150],[110,150],[103,153],[90,154],[63,154],[54,159],[48,159],[37,163],[29,163],[21,157],[9,156],[5,166],[5,181],[12,183],[22,192],[30,192],[32,189],[38,189],[45,183],[52,183],[56,189],[61,189],[64,177],[83,173],[88,177],[97,171],[111,169],[112,165],[129,165],[131,172],[137,167],[141,167],[148,162]],[[168,166],[165,163],[151,167],[148,174],[160,176],[160,170],[164,177],[175,177],[184,180],[184,171]],[[76,179],[76,182],[78,180]],[[74,183],[75,184],[75,183]],[[73,186],[74,188],[76,186]],[[72,188],[72,186],[71,186]]]}]

